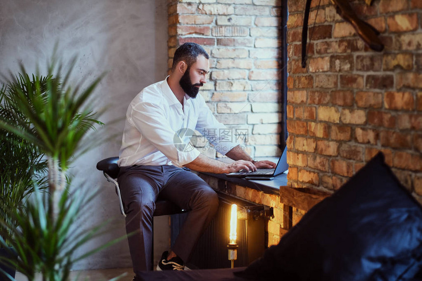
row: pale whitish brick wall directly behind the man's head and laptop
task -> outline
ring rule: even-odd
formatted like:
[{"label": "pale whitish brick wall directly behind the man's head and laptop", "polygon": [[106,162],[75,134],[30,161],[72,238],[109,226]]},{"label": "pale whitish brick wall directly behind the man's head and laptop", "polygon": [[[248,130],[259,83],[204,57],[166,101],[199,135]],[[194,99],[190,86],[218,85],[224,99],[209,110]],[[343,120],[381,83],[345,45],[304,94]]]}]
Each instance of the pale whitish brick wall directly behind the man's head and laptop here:
[{"label": "pale whitish brick wall directly behind the man's head and laptop", "polygon": [[[181,44],[206,49],[211,71],[200,93],[220,122],[249,132],[246,145],[254,157],[281,154],[280,5],[281,0],[168,4],[169,68]],[[203,145],[203,153],[215,156]]]}]

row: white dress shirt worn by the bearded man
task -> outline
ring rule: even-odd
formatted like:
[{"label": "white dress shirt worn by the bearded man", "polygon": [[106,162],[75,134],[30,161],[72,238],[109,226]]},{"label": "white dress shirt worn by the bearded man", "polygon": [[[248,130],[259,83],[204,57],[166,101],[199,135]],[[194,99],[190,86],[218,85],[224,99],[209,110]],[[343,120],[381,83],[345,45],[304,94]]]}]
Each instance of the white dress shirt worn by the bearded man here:
[{"label": "white dress shirt worn by the bearded man", "polygon": [[[227,127],[212,115],[204,98],[185,95],[184,106],[171,91],[167,78],[144,88],[129,104],[118,165],[183,165],[200,152],[189,144],[191,134],[183,128],[198,130],[226,154],[237,144],[218,134]],[[213,137],[204,132],[217,132]]]}]

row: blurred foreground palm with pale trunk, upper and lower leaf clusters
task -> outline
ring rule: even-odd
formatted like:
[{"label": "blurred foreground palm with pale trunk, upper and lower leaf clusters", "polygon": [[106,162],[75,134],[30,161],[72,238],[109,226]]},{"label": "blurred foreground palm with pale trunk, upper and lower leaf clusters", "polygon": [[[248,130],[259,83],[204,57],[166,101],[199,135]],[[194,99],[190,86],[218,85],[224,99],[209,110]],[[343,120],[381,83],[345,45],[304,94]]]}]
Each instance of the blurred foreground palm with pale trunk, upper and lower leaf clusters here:
[{"label": "blurred foreground palm with pale trunk, upper and lower leaf clusters", "polygon": [[8,240],[19,256],[17,261],[9,262],[13,262],[29,281],[34,280],[36,272],[40,272],[45,281],[67,281],[76,261],[124,238],[86,254],[73,255],[76,249],[100,235],[105,225],[90,231],[72,229],[91,198],[86,194],[82,196],[81,191],[70,194],[71,177],[67,174],[74,156],[86,150],[83,140],[88,132],[102,125],[97,119],[99,114],[87,105],[102,77],[81,91],[82,83],[74,86],[69,83],[76,58],[62,75],[65,66],[57,63],[55,57],[48,64],[45,83],[39,79],[31,81],[21,66],[22,75],[19,77],[22,79],[15,78],[10,82],[21,87],[16,88],[9,102],[23,118],[18,118],[19,126],[0,119],[1,129],[34,144],[47,160],[48,192],[40,192],[38,185],[34,184],[33,196],[25,204],[25,215],[12,210],[8,219],[0,221],[0,243],[5,245]]}]

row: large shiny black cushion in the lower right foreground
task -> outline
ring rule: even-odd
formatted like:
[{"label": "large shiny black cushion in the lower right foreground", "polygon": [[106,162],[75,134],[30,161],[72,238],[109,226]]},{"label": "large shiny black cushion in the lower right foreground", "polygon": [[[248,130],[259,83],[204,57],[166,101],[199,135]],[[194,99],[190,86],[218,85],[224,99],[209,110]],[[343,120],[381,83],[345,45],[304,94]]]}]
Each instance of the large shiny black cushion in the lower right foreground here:
[{"label": "large shiny black cushion in the lower right foreground", "polygon": [[294,281],[408,280],[422,256],[422,208],[377,154],[239,273]]}]

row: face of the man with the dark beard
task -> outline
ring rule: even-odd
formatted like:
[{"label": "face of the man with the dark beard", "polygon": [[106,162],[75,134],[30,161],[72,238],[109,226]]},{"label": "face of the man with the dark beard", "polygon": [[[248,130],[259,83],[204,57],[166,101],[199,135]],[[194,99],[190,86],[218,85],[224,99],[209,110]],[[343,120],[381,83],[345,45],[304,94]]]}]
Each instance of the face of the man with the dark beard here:
[{"label": "face of the man with the dark beard", "polygon": [[209,70],[210,65],[208,59],[203,55],[199,55],[196,62],[186,69],[179,81],[179,84],[186,95],[191,98],[196,98],[199,88],[202,87],[204,83],[207,83],[206,75]]}]

